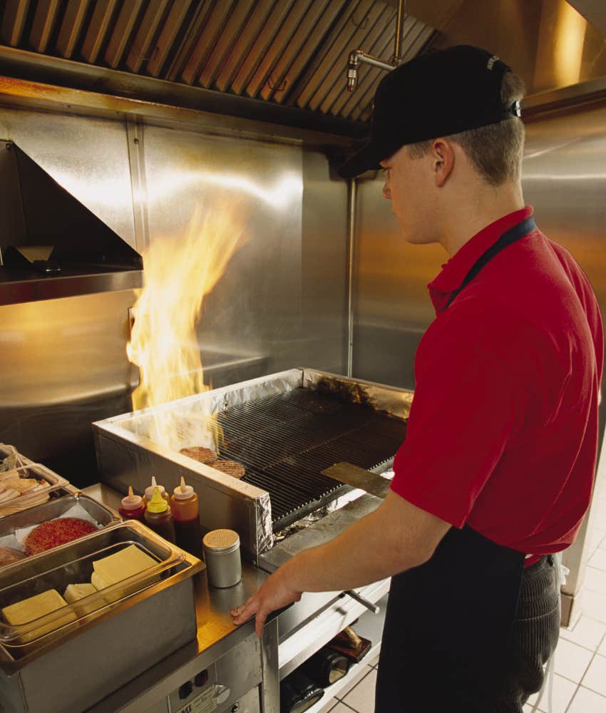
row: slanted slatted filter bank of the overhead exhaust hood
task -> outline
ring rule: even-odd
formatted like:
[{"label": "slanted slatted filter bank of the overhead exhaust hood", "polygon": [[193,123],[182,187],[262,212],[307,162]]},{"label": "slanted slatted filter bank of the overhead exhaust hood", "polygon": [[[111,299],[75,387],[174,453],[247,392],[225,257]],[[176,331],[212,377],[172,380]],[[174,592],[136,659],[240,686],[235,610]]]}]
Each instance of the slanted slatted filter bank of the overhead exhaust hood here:
[{"label": "slanted slatted filter bank of the overhead exhaust hood", "polygon": [[[391,61],[383,0],[70,0],[0,4],[0,74],[361,138],[382,71],[345,91],[351,51]],[[403,59],[432,26],[402,22]]]}]

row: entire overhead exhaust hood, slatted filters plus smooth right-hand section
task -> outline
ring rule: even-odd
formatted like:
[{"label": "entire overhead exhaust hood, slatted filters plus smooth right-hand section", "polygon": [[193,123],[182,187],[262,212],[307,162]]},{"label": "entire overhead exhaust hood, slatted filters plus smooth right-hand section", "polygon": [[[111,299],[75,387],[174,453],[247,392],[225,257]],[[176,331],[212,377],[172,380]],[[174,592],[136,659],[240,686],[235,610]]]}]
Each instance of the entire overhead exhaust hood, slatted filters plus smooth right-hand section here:
[{"label": "entire overhead exhaust hood, slatted filters plus smooth right-hand section", "polygon": [[[349,147],[366,134],[383,70],[360,66],[357,90],[348,93],[347,58],[364,49],[389,65],[400,6],[400,0],[10,0],[0,4],[0,78],[7,78],[0,98],[11,98],[11,80],[29,81],[45,99],[60,87],[145,101],[146,109],[252,120],[277,135],[315,133],[326,138],[322,145]],[[401,59],[479,44],[513,66],[530,95],[575,85],[595,95],[590,83],[606,76],[605,7],[600,0],[408,0]]]}]

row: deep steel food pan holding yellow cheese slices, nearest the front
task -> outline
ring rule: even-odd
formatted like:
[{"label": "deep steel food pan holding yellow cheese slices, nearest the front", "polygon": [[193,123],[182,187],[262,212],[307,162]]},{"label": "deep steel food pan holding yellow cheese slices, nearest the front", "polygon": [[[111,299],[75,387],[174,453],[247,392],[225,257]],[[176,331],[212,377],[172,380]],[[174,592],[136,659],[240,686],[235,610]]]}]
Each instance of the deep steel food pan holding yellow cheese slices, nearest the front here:
[{"label": "deep steel food pan holding yellow cheese slices, nearest the front", "polygon": [[87,709],[195,639],[193,575],[204,565],[133,520],[23,560],[19,568],[0,570],[0,589],[26,578],[34,582],[53,567],[63,566],[67,572],[70,563],[99,548],[129,542],[141,543],[158,560],[175,552],[180,560],[170,565],[164,578],[93,616],[81,617],[66,635],[21,657],[16,647],[0,644],[0,700],[7,713]]}]

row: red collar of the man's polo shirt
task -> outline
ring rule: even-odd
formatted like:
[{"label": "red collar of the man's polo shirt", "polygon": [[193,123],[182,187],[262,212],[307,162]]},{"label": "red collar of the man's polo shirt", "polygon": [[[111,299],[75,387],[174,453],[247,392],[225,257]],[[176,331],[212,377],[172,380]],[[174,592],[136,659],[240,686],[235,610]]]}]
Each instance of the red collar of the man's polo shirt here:
[{"label": "red collar of the man's polo shirt", "polygon": [[480,232],[476,232],[457,252],[451,257],[448,262],[442,265],[442,270],[438,276],[433,279],[428,285],[429,296],[433,307],[436,309],[436,314],[443,312],[446,309],[446,303],[451,292],[461,287],[463,280],[473,265],[475,265],[481,255],[483,255],[489,247],[507,232],[514,225],[526,220],[533,215],[533,207],[526,207],[515,210],[513,213],[508,213],[503,217],[491,222],[490,225],[484,227]]}]

